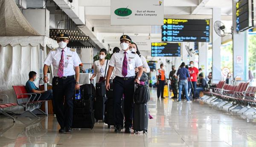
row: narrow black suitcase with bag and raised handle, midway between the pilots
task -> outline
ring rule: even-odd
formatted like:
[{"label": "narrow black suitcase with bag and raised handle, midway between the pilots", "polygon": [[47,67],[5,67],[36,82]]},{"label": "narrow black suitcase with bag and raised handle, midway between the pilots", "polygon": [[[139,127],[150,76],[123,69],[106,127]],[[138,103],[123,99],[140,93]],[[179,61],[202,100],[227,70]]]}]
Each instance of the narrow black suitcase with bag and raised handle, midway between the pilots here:
[{"label": "narrow black suitcase with bag and raised handle, midway between the pilots", "polygon": [[[105,68],[105,75],[104,79],[106,77],[108,67],[108,61]],[[96,122],[98,120],[102,120],[102,122],[105,121],[105,102],[106,102],[106,87],[105,87],[105,80],[102,82],[96,83],[96,97],[94,99],[94,117],[96,119]]]}]

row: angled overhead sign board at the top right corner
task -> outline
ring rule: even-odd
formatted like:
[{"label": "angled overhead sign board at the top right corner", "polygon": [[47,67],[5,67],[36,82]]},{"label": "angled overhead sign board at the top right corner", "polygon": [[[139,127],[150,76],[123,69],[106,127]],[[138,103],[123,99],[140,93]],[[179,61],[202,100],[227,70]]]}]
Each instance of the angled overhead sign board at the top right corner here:
[{"label": "angled overhead sign board at the top right corner", "polygon": [[236,3],[236,31],[252,28],[253,20],[253,0],[239,0]]}]

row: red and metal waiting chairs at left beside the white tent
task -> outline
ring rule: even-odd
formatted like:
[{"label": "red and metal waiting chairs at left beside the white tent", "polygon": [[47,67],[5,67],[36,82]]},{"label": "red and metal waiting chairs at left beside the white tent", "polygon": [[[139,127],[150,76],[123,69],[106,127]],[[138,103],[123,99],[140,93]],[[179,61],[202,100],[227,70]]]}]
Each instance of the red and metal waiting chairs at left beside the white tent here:
[{"label": "red and metal waiting chairs at left beside the white tent", "polygon": [[13,106],[22,106],[24,108],[24,112],[20,114],[20,116],[26,116],[26,117],[36,117],[37,114],[43,114],[47,115],[40,109],[43,102],[46,102],[46,100],[41,101],[39,100],[41,97],[40,93],[28,93],[26,91],[26,87],[23,85],[19,86],[12,86],[13,90],[16,94],[17,103],[8,103],[8,96],[7,95],[0,95],[5,96],[7,101],[6,103],[0,104],[0,113],[2,113],[5,116],[8,116],[9,118],[13,119],[13,122],[15,122],[15,118],[10,116],[8,113],[4,111],[7,107],[13,107]]}]

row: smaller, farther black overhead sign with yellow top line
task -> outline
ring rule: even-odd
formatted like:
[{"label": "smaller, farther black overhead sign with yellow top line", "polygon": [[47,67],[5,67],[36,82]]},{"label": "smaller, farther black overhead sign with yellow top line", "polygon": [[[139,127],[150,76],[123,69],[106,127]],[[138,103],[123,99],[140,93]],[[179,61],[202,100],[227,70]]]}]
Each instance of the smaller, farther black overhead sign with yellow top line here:
[{"label": "smaller, farther black overhead sign with yellow top line", "polygon": [[180,43],[151,43],[152,57],[180,57]]}]

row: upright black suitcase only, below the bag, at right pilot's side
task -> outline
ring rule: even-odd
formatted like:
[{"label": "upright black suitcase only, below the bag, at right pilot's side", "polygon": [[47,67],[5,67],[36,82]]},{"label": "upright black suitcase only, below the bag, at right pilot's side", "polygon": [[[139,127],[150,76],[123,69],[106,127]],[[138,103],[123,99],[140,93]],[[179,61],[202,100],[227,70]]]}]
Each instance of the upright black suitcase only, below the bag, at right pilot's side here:
[{"label": "upright black suitcase only, below the bag, at right pilot's side", "polygon": [[133,129],[135,134],[148,132],[148,104],[134,104]]}]

